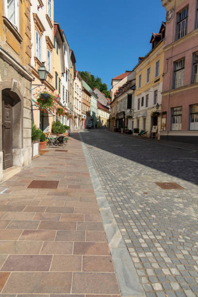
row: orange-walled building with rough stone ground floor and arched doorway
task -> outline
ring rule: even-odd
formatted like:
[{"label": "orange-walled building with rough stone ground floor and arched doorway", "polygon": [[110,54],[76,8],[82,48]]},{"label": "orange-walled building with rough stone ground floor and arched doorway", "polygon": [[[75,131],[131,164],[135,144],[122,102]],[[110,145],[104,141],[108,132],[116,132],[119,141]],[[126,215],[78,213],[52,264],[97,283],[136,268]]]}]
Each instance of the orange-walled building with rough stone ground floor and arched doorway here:
[{"label": "orange-walled building with rough stone ground floor and arched doorway", "polygon": [[30,6],[30,0],[0,1],[0,181],[5,169],[32,160]]}]

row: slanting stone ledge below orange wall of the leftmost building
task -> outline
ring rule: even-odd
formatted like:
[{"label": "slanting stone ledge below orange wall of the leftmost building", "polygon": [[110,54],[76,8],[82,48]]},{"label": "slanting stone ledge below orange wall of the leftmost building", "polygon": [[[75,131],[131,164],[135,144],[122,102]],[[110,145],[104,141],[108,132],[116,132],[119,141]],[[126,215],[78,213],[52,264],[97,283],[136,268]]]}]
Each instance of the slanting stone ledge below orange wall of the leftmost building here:
[{"label": "slanting stone ledge below orange wall of the leftmost building", "polygon": [[0,57],[6,61],[8,64],[10,64],[15,70],[25,77],[28,81],[33,81],[33,76],[31,73],[29,73],[23,66],[21,66],[16,60],[7,52],[5,49],[0,47]]}]

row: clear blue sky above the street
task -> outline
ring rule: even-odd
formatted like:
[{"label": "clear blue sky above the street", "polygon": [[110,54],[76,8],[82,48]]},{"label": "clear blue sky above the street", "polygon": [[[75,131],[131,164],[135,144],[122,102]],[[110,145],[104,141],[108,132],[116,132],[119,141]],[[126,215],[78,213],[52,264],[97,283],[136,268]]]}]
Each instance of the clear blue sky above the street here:
[{"label": "clear blue sky above the street", "polygon": [[132,70],[150,49],[152,32],[165,21],[161,0],[54,0],[54,20],[65,31],[76,69],[101,77]]}]

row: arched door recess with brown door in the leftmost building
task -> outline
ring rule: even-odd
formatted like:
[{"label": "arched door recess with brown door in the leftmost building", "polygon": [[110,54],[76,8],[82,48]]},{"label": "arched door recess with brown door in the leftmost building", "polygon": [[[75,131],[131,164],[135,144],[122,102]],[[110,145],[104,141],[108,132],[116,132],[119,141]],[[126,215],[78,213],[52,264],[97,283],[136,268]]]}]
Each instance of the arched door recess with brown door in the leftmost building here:
[{"label": "arched door recess with brown door in the leftmost building", "polygon": [[15,165],[13,149],[22,148],[21,100],[10,89],[2,90],[3,169]]}]

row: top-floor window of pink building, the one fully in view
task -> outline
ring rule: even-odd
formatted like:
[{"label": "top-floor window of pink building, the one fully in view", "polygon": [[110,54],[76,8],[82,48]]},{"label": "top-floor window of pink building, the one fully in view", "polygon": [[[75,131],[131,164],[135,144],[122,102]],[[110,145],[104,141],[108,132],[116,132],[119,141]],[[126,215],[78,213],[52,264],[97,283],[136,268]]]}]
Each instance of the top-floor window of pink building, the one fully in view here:
[{"label": "top-floor window of pink building, the one fully in view", "polygon": [[184,8],[180,13],[177,14],[177,34],[176,39],[187,34],[188,27],[188,7]]}]

